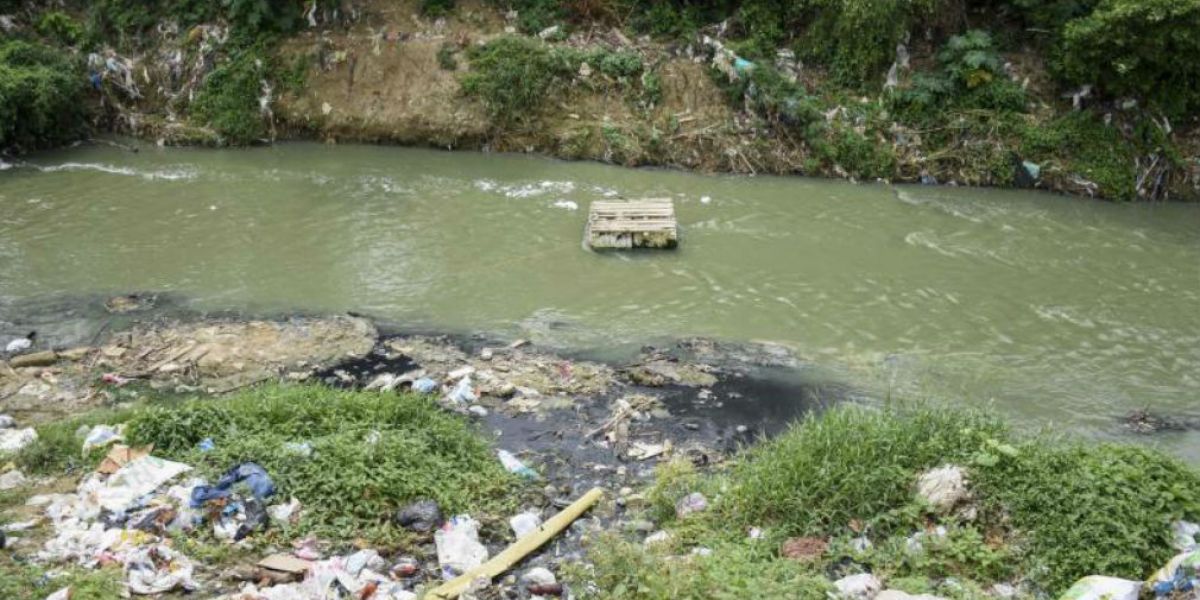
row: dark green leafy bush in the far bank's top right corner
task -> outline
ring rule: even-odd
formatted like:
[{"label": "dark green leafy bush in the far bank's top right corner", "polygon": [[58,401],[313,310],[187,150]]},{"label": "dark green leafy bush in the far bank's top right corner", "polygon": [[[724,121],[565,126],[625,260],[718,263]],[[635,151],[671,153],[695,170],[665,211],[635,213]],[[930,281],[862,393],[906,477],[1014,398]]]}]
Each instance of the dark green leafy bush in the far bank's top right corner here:
[{"label": "dark green leafy bush in the far bank's top right corner", "polygon": [[1200,0],[1102,0],[1063,32],[1066,76],[1182,115],[1200,110]]}]

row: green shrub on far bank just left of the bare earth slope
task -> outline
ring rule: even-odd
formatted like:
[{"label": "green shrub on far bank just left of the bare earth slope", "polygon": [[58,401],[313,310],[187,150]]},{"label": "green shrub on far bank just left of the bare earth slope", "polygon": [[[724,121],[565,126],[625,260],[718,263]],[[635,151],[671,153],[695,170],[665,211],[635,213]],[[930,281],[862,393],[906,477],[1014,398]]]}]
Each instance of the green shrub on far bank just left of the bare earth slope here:
[{"label": "green shrub on far bank just left of the bare earth slope", "polygon": [[204,78],[192,113],[230,144],[265,138],[268,124],[258,106],[262,82],[268,76],[264,65],[256,52],[235,53]]}]

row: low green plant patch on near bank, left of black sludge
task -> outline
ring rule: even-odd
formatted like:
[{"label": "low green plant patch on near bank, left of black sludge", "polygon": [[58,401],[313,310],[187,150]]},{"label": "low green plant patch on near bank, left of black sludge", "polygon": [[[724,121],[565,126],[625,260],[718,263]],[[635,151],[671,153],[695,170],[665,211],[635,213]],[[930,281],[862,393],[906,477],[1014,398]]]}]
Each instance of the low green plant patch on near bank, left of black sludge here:
[{"label": "low green plant patch on near bank, left of black sludge", "polygon": [[[502,511],[516,482],[469,424],[424,396],[266,386],[222,400],[139,412],[132,444],[218,476],[244,461],[262,464],[280,498],[305,505],[301,527],[341,539],[386,535],[395,510],[433,498],[444,511]],[[211,438],[216,448],[197,445]],[[288,444],[307,443],[302,456]]]}]

